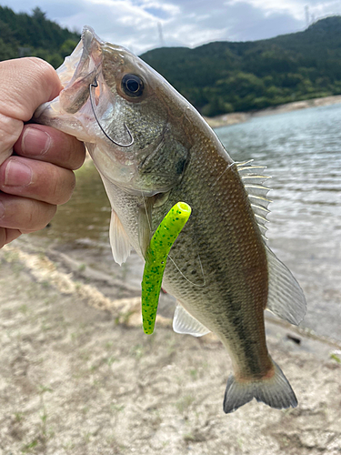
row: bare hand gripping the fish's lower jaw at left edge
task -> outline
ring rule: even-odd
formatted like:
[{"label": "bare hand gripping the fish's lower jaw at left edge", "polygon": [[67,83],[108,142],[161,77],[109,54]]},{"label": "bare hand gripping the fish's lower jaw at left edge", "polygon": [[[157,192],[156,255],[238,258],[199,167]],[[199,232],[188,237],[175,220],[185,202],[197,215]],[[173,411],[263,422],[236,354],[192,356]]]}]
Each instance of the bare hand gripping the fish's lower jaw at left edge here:
[{"label": "bare hand gripping the fish's lower jaw at left edge", "polygon": [[72,170],[85,147],[51,126],[25,125],[62,89],[52,66],[35,57],[0,63],[0,248],[45,227],[71,197]]}]

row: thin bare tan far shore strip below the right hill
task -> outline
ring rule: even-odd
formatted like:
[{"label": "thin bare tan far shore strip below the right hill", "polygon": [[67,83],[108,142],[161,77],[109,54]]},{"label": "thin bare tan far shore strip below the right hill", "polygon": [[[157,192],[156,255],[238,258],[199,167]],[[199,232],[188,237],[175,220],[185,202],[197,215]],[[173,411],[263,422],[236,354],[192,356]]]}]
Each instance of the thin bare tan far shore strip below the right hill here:
[{"label": "thin bare tan far shore strip below the right hill", "polygon": [[218,128],[220,126],[243,123],[255,116],[272,116],[274,114],[284,114],[286,112],[296,111],[299,109],[306,109],[307,107],[329,106],[337,103],[341,103],[341,95],[295,101],[293,103],[287,103],[286,105],[266,107],[266,109],[253,112],[232,112],[231,114],[223,114],[222,116],[204,118],[209,126],[212,128]]}]

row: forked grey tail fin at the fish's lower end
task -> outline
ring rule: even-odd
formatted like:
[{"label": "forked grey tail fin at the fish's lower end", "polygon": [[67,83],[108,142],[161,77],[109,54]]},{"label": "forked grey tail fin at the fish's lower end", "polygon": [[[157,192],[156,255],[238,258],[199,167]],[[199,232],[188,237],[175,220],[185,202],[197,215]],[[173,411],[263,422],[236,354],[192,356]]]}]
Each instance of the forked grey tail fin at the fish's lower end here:
[{"label": "forked grey tail fin at the fish's lower end", "polygon": [[273,364],[274,374],[269,379],[238,381],[233,375],[228,378],[224,397],[226,414],[237,410],[254,398],[276,410],[296,408],[297,399],[294,390],[282,369],[274,361]]}]

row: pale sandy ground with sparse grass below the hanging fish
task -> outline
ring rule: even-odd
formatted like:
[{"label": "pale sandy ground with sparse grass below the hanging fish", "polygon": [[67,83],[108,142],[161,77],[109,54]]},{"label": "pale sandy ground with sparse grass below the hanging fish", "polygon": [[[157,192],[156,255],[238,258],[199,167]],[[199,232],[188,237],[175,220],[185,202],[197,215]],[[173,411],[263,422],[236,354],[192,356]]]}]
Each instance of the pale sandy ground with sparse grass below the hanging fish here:
[{"label": "pale sandy ground with sparse grass below the hanging fish", "polygon": [[176,335],[167,298],[145,336],[129,274],[108,278],[22,238],[0,251],[0,286],[0,455],[341,454],[331,341],[268,319],[299,406],[254,400],[226,415],[225,349]]}]

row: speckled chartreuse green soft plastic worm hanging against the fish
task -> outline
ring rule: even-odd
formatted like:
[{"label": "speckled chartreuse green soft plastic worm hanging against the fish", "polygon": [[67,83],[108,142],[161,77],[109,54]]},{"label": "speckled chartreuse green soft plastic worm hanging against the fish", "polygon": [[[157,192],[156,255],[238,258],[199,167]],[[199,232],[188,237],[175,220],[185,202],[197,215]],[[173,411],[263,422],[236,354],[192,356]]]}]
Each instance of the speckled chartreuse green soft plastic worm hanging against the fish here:
[{"label": "speckled chartreuse green soft plastic worm hanging against the fish", "polygon": [[170,248],[186,225],[191,211],[186,202],[178,202],[165,215],[150,240],[145,257],[141,298],[143,326],[148,335],[154,331],[158,298]]}]

